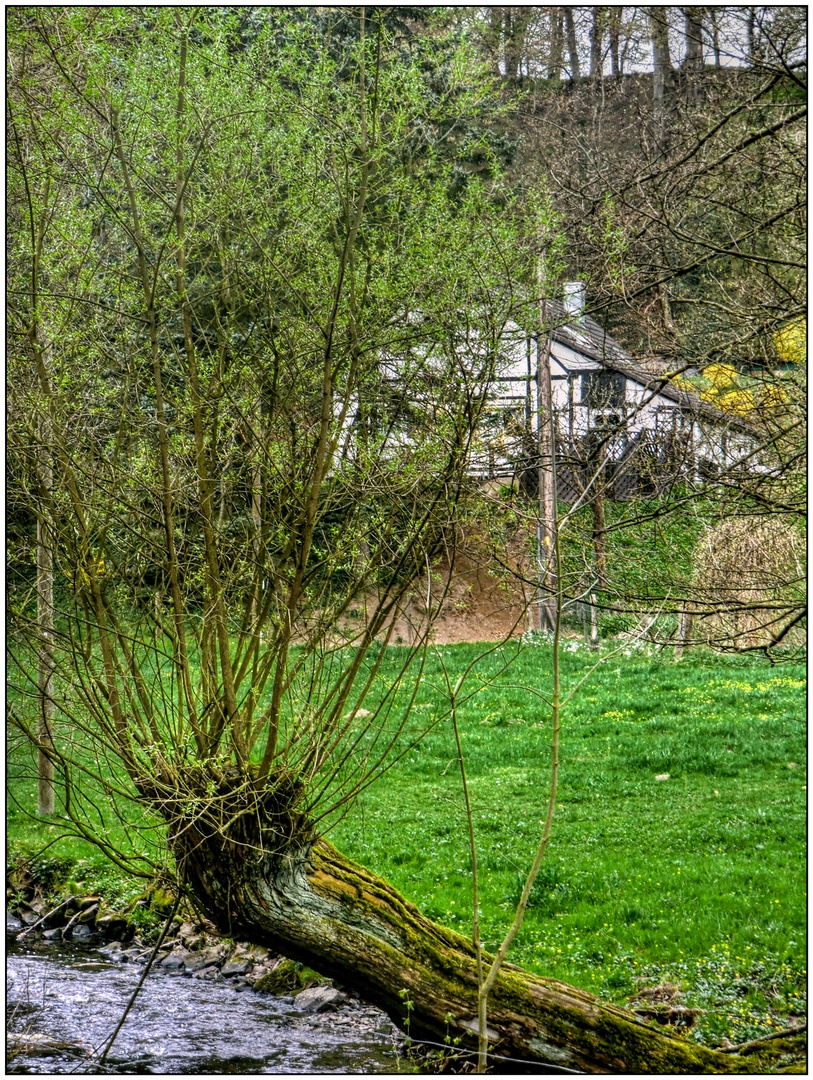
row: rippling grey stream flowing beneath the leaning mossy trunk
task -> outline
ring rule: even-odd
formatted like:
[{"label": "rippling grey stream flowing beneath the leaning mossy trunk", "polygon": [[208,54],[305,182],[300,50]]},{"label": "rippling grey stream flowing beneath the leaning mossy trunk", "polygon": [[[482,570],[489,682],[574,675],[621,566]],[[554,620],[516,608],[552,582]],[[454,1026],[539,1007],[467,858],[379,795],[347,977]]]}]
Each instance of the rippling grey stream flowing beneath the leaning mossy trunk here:
[{"label": "rippling grey stream flowing beneath the leaning mossy trunk", "polygon": [[[10,941],[6,971],[11,1031],[103,1048],[144,968],[78,945]],[[32,1052],[6,1072],[393,1072],[393,1042],[380,1034],[389,1028],[367,1007],[308,1015],[228,982],[150,971],[104,1068],[79,1051]]]}]

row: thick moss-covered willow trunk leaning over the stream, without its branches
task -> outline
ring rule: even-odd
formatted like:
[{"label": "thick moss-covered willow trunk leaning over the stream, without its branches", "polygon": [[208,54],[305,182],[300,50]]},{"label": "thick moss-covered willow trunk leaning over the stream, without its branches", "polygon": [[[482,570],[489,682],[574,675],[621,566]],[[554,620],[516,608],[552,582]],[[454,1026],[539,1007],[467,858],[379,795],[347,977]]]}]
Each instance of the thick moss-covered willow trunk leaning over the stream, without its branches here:
[{"label": "thick moss-covered willow trunk leaning over the stream, without its branches", "polygon": [[[222,932],[336,978],[414,1039],[461,1037],[476,1049],[471,942],[425,918],[387,881],[321,839],[283,854],[246,854],[244,845],[187,824],[174,846]],[[507,963],[489,999],[488,1035],[498,1067],[504,1057],[580,1072],[750,1070],[736,1055],[666,1035],[591,994]]]}]

